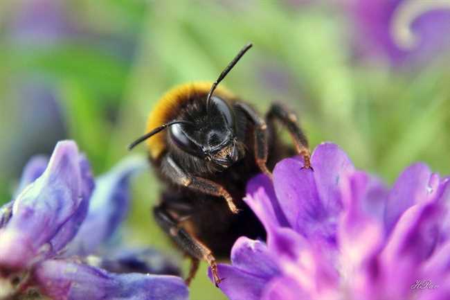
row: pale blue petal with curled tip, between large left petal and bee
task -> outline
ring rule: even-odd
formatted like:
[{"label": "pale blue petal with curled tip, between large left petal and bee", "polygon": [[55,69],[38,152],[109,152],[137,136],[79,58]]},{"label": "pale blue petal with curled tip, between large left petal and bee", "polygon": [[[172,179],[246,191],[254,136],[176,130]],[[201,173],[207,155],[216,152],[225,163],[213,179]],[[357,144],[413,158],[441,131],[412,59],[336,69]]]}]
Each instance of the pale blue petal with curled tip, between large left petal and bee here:
[{"label": "pale blue petal with curled tip, between large left petal and bee", "polygon": [[68,246],[66,255],[92,254],[111,237],[128,211],[129,178],[146,166],[143,157],[129,157],[96,179],[87,218]]}]

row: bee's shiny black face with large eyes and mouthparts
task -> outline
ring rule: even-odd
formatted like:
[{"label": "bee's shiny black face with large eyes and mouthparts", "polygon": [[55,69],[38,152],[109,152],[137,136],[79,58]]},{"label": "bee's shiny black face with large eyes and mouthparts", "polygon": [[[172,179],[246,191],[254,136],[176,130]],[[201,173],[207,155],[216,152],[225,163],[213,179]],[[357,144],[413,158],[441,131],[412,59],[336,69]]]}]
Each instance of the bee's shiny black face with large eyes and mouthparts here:
[{"label": "bee's shiny black face with large eyes and mouthparts", "polygon": [[236,137],[233,110],[219,97],[211,98],[210,107],[201,107],[189,124],[170,127],[170,138],[181,150],[206,159],[220,168],[228,168],[242,157]]}]

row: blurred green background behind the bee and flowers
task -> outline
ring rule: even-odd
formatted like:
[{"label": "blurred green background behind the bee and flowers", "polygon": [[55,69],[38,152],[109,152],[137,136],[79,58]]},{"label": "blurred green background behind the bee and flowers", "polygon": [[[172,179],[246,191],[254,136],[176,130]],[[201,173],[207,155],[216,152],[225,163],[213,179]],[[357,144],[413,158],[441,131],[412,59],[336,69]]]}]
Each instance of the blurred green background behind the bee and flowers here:
[{"label": "blurred green background behind the bee and flowers", "polygon": [[[386,24],[354,4],[1,1],[0,204],[28,158],[50,154],[60,139],[77,141],[96,174],[107,171],[129,155],[165,91],[215,80],[249,41],[254,47],[224,85],[260,112],[273,100],[290,105],[312,148],[334,141],[388,183],[413,161],[449,174],[448,49],[384,44],[369,33]],[[136,180],[127,238],[177,255],[150,218],[159,188],[151,173]],[[203,265],[191,299],[224,299],[205,273]]]}]

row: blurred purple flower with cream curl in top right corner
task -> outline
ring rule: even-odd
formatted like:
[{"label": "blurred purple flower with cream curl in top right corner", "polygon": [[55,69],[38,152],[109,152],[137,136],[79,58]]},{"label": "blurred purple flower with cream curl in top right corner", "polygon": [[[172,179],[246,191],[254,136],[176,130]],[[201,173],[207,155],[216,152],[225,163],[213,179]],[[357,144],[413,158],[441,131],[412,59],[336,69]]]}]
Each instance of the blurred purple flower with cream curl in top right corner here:
[{"label": "blurred purple flower with cream curl in top right corner", "polygon": [[426,62],[450,48],[447,0],[346,0],[357,22],[359,51],[396,65]]}]

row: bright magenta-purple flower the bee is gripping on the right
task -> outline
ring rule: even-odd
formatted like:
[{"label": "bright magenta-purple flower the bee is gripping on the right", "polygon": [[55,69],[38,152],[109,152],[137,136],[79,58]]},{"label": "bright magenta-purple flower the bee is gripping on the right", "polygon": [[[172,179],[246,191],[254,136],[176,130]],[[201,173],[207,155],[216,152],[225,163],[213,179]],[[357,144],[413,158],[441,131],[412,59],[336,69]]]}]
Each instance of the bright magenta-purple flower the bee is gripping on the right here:
[{"label": "bright magenta-purple flower the bee is gripping on the right", "polygon": [[284,159],[244,199],[267,243],[241,237],[219,287],[232,300],[448,299],[450,179],[424,164],[388,191],[332,143]]}]

